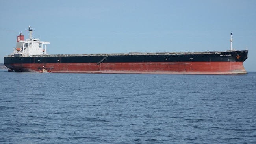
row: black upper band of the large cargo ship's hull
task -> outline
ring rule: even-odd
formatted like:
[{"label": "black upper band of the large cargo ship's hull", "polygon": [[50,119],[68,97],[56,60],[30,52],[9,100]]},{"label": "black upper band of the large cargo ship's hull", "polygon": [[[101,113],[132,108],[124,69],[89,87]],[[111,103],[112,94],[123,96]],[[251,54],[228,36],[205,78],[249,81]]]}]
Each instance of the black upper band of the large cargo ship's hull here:
[{"label": "black upper band of the large cargo ship's hull", "polygon": [[[52,56],[4,57],[4,64],[12,63],[141,63],[141,62],[243,62],[248,51],[231,51],[220,54],[179,55],[106,55],[102,56]],[[102,61],[103,60],[103,61]]]}]

